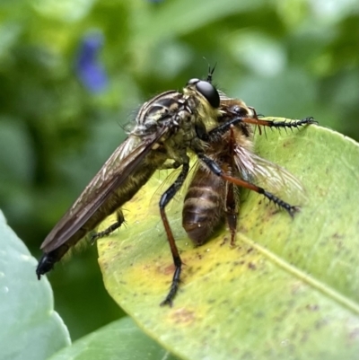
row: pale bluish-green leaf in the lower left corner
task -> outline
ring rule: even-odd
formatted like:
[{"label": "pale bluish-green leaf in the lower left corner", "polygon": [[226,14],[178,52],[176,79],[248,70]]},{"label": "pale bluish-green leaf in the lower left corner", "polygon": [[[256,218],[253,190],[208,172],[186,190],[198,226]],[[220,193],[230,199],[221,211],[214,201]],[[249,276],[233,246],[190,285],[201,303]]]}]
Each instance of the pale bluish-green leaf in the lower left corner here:
[{"label": "pale bluish-green leaf in the lower left corner", "polygon": [[47,359],[70,344],[67,328],[54,312],[46,278],[35,274],[37,261],[0,212],[0,358]]}]

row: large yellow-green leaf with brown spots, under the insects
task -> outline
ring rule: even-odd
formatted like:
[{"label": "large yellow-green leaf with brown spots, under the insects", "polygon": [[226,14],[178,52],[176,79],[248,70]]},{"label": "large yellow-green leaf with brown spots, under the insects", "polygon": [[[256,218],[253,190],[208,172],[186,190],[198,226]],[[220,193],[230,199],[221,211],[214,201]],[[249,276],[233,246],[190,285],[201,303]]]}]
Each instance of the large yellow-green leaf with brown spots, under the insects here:
[{"label": "large yellow-green leaf with brown spots, under the insects", "polygon": [[181,227],[181,204],[170,206],[185,265],[173,307],[160,307],[174,270],[152,198],[160,171],[125,206],[127,226],[99,241],[105,285],[147,334],[186,359],[355,359],[359,147],[317,126],[257,137],[258,154],[306,189],[294,219],[251,192],[241,204],[237,246],[223,244],[223,229],[195,248]]}]

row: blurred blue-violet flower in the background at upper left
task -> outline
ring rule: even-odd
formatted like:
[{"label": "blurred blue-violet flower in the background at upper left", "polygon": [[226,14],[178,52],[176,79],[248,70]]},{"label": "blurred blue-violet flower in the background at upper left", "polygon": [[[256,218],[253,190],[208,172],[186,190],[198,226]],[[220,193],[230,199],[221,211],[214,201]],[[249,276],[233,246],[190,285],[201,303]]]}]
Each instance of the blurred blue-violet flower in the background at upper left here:
[{"label": "blurred blue-violet flower in the background at upper left", "polygon": [[103,92],[108,85],[108,76],[98,59],[102,45],[101,33],[88,33],[83,37],[75,59],[76,74],[90,92]]}]

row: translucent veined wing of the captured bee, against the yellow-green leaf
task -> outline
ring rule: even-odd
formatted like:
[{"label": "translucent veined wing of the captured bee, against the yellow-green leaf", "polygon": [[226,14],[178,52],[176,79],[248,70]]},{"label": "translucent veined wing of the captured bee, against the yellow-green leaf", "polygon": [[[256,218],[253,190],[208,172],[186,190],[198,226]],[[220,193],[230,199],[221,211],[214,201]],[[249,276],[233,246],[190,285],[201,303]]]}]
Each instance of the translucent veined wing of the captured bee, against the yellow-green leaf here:
[{"label": "translucent veined wing of the captured bee, against the yellow-green leaf", "polygon": [[305,190],[300,180],[276,163],[269,162],[250,150],[237,145],[234,161],[241,178],[276,195],[293,205],[305,202]]}]

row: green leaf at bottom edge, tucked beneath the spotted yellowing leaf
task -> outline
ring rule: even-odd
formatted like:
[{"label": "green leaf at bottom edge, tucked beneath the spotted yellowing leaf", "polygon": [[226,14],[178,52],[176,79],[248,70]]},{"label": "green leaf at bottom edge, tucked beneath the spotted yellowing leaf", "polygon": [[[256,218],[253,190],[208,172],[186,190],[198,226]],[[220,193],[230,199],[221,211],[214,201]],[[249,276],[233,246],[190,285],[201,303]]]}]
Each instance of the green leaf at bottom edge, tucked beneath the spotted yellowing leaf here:
[{"label": "green leaf at bottom edge, tucked beneath the spotted yellowing leaf", "polygon": [[71,347],[59,351],[51,360],[176,360],[138,329],[130,318],[109,325],[74,341]]}]

